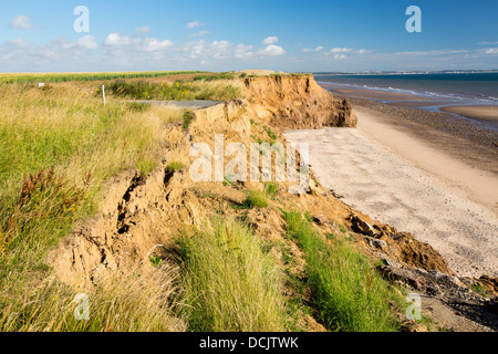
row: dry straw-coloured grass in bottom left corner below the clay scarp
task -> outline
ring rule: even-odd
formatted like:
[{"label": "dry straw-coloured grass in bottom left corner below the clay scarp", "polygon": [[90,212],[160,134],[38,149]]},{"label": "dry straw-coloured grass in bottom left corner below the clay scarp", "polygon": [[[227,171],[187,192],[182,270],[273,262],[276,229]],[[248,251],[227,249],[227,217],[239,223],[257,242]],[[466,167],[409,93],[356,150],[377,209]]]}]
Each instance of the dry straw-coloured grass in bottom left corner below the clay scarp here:
[{"label": "dry straw-coloured grass in bottom left corner below the clay scarp", "polygon": [[[107,278],[87,292],[89,311],[75,302],[73,289],[46,283],[25,295],[22,306],[0,309],[2,332],[176,332],[185,319],[176,300],[173,268],[156,266],[149,272]],[[75,317],[74,314],[87,317]]]}]

